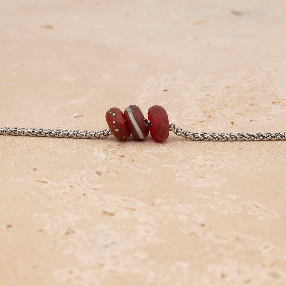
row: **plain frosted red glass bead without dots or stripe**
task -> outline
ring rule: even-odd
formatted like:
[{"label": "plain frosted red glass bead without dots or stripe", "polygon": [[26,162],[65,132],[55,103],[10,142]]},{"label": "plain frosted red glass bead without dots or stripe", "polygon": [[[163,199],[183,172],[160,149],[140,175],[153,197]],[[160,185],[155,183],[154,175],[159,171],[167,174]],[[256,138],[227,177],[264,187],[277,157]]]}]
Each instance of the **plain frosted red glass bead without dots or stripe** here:
[{"label": "plain frosted red glass bead without dots or stripe", "polygon": [[148,119],[152,124],[149,128],[150,134],[155,141],[164,141],[168,138],[169,118],[166,110],[159,105],[151,106],[148,110]]}]

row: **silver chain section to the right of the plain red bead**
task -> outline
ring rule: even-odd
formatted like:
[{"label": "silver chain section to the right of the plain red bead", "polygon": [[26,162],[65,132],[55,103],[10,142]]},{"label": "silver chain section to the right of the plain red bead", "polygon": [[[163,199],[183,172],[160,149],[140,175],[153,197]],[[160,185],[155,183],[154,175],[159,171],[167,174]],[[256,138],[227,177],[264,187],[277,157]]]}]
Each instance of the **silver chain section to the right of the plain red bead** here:
[{"label": "silver chain section to the right of the plain red bead", "polygon": [[190,132],[183,130],[174,123],[170,124],[170,131],[185,139],[193,141],[267,141],[267,140],[286,140],[286,132],[267,132],[267,133],[205,133]]}]

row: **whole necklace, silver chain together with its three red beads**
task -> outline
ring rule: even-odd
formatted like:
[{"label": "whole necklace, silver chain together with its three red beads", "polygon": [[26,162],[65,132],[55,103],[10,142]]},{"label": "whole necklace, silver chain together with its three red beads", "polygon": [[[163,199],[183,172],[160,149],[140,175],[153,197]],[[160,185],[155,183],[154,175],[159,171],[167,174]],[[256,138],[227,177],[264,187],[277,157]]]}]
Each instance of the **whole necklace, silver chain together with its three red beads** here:
[{"label": "whole necklace, silver chain together with its three red beads", "polygon": [[168,114],[162,106],[152,106],[148,110],[148,119],[144,118],[136,105],[128,106],[124,113],[116,107],[106,112],[108,129],[101,131],[79,131],[44,128],[10,128],[0,127],[0,135],[21,135],[57,138],[100,139],[114,135],[118,140],[126,140],[131,134],[136,140],[142,140],[150,133],[155,141],[161,142],[168,138],[172,131],[177,136],[192,141],[267,141],[286,140],[286,132],[267,133],[205,133],[190,132],[169,122]]}]

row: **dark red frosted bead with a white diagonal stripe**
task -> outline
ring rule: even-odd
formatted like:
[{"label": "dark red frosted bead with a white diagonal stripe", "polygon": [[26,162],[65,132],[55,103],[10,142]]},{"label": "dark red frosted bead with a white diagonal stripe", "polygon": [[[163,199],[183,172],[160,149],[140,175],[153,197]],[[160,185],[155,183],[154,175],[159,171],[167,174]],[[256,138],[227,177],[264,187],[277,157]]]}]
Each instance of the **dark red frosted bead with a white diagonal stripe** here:
[{"label": "dark red frosted bead with a white diagonal stripe", "polygon": [[149,134],[149,128],[144,122],[144,115],[137,105],[129,105],[124,110],[126,123],[132,136],[136,140],[142,140]]}]

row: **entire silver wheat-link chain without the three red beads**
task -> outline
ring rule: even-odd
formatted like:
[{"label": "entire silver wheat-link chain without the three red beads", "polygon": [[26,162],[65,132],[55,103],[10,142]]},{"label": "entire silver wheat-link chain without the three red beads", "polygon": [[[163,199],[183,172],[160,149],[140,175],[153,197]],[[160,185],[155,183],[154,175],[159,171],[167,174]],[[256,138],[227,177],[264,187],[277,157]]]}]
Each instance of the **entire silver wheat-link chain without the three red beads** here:
[{"label": "entire silver wheat-link chain without the three red beads", "polygon": [[[152,126],[149,120],[145,120],[147,126]],[[183,130],[174,123],[169,123],[170,131],[178,136],[193,141],[267,141],[267,140],[286,140],[286,132],[267,132],[267,133],[205,133],[190,132]],[[21,135],[21,136],[38,136],[38,137],[57,137],[57,138],[83,138],[99,139],[112,135],[110,129],[101,131],[79,131],[79,130],[61,130],[61,129],[44,129],[44,128],[10,128],[0,127],[0,135]]]}]

